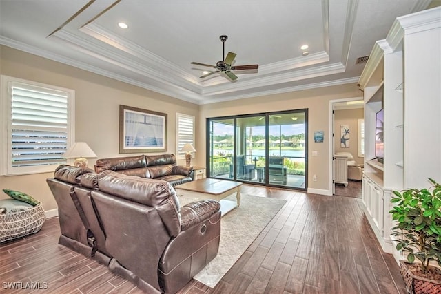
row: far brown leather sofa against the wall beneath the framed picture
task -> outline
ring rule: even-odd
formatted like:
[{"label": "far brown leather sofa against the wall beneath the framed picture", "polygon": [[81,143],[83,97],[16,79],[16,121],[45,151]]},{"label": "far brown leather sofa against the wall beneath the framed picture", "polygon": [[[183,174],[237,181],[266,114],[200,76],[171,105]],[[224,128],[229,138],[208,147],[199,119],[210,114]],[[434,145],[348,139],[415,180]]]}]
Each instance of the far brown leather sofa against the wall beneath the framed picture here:
[{"label": "far brown leather sofa against the wall beneath the framed picture", "polygon": [[154,178],[170,182],[174,187],[194,180],[193,167],[176,165],[174,154],[139,155],[96,160],[95,171],[111,170],[129,176]]}]

